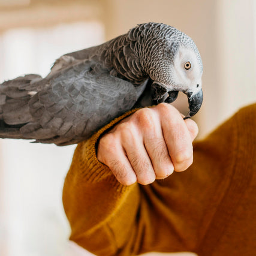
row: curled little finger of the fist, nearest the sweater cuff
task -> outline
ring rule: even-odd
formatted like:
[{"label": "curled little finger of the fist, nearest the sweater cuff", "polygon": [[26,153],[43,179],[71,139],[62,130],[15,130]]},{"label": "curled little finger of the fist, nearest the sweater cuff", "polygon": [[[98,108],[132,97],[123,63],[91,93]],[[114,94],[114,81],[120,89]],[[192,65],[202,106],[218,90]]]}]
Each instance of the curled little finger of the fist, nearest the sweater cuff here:
[{"label": "curled little finger of the fist, nearest the sweater cuff", "polygon": [[115,135],[110,133],[100,139],[97,158],[110,168],[121,184],[128,186],[137,181],[137,176],[125,155],[125,150]]}]

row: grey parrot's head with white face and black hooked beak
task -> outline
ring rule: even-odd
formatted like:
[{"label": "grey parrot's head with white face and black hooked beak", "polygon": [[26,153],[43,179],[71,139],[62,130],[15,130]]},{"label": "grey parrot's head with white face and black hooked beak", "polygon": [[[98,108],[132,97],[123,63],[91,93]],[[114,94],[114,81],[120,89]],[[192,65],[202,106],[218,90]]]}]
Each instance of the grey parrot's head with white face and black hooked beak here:
[{"label": "grey parrot's head with white face and black hooked beak", "polygon": [[189,103],[186,118],[190,118],[198,112],[203,101],[203,64],[197,46],[176,28],[161,23],[149,24],[154,29],[144,33],[140,57],[144,70],[153,80],[152,99],[157,103],[171,103],[179,91],[183,92]]}]

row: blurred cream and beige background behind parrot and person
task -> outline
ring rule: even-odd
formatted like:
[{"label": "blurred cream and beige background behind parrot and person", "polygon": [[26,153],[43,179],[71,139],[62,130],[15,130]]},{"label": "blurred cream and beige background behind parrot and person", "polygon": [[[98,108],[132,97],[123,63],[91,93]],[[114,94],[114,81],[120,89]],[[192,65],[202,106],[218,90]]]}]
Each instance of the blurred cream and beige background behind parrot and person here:
[{"label": "blurred cream and beige background behind parrot and person", "polygon": [[[46,76],[64,53],[137,23],[166,23],[188,34],[203,59],[204,102],[195,116],[203,137],[256,101],[255,14],[254,0],[0,0],[0,83]],[[176,106],[187,111],[182,99]],[[62,207],[74,148],[0,139],[0,255],[92,255],[68,241]]]}]

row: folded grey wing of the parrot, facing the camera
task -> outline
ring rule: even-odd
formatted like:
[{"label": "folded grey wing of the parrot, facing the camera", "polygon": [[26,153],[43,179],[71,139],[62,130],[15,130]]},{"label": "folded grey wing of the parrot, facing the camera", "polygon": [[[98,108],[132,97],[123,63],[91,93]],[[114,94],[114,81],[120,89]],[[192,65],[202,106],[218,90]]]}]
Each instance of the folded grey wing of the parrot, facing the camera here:
[{"label": "folded grey wing of the parrot, facing the camera", "polygon": [[145,87],[137,89],[88,60],[61,70],[48,83],[29,100],[32,122],[29,118],[20,132],[25,138],[60,146],[85,140],[132,109]]}]

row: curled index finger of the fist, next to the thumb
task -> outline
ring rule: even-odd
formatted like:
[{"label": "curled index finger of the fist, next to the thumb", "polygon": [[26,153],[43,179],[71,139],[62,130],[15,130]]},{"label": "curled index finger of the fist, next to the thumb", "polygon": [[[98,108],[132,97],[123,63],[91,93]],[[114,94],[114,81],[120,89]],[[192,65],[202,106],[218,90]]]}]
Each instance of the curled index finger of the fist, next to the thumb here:
[{"label": "curled index finger of the fist, next to the thumb", "polygon": [[175,171],[183,171],[192,164],[191,135],[179,112],[172,106],[162,104],[162,134]]}]

